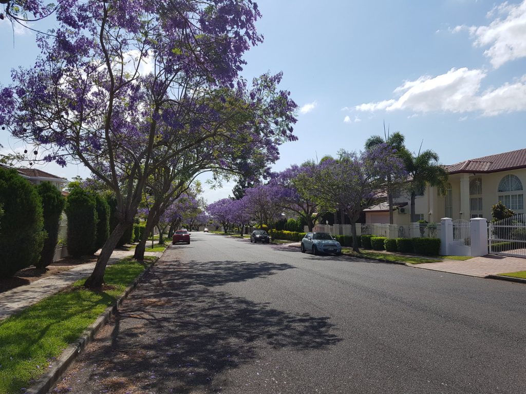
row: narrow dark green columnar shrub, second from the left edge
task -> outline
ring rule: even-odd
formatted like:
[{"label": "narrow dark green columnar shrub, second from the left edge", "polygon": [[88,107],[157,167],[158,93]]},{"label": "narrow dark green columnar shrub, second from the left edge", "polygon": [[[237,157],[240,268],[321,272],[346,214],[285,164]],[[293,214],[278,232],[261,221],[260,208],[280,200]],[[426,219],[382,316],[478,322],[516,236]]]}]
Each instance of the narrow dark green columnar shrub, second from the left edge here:
[{"label": "narrow dark green columnar shrub, second from the left edge", "polygon": [[38,184],[36,190],[42,201],[44,230],[46,231],[47,236],[44,240],[44,247],[40,254],[40,260],[35,266],[37,268],[44,268],[53,263],[58,240],[60,215],[64,210],[66,201],[56,186],[50,182],[42,182],[41,184]]}]

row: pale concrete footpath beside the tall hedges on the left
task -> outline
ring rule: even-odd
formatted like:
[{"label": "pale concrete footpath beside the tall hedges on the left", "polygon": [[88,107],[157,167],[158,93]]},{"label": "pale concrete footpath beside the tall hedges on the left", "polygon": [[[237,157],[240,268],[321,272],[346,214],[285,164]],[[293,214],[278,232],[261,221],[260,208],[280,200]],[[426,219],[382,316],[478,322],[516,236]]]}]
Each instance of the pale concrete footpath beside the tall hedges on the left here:
[{"label": "pale concrete footpath beside the tall hedges on the left", "polygon": [[[133,256],[134,251],[114,251],[108,264],[113,264],[121,258]],[[98,252],[97,252],[98,254]],[[147,256],[160,257],[163,252],[145,252]],[[96,262],[86,263],[56,275],[47,276],[25,286],[19,286],[0,293],[0,320],[5,319],[39,300],[58,293],[63,288],[85,278],[93,272]]]}]

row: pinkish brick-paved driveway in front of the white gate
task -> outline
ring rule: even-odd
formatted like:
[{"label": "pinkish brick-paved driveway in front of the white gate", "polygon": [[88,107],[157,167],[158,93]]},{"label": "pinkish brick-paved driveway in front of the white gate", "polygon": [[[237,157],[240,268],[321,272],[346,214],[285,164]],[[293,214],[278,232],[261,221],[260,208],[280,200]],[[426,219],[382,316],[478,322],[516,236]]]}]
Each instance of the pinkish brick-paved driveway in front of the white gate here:
[{"label": "pinkish brick-paved driveway in front of the white gate", "polygon": [[526,271],[526,258],[488,254],[466,261],[449,260],[441,263],[416,264],[414,267],[483,278],[488,275]]}]

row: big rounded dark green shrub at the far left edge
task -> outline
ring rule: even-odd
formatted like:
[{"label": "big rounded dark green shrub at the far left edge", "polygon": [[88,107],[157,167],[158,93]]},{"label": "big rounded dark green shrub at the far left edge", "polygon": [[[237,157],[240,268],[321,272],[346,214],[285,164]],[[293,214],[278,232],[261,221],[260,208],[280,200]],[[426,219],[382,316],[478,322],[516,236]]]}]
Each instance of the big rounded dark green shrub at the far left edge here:
[{"label": "big rounded dark green shrub at the far left edge", "polygon": [[37,264],[46,233],[41,198],[15,170],[0,167],[0,277]]}]

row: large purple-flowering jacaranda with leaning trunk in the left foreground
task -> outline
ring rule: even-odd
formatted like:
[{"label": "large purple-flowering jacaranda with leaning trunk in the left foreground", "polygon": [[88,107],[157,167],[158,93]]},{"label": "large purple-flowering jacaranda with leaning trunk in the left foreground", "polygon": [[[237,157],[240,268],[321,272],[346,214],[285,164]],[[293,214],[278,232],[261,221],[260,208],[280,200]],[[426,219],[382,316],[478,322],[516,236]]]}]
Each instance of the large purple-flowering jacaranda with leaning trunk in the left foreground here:
[{"label": "large purple-flowering jacaranda with leaning trunk in the left foreground", "polygon": [[296,105],[268,89],[280,75],[253,89],[238,78],[242,55],[262,41],[250,0],[68,0],[55,14],[57,27],[37,35],[35,66],[14,70],[13,84],[0,88],[0,124],[47,149],[47,161],[83,163],[114,192],[118,224],[85,283],[100,287],[154,157],[163,163],[207,142],[214,151],[213,139],[239,124],[245,135],[232,149],[267,144],[277,155]]}]

